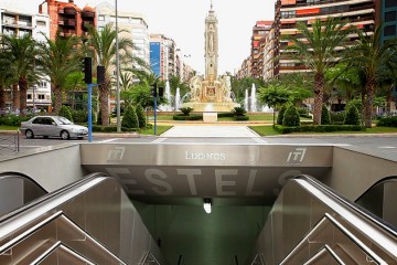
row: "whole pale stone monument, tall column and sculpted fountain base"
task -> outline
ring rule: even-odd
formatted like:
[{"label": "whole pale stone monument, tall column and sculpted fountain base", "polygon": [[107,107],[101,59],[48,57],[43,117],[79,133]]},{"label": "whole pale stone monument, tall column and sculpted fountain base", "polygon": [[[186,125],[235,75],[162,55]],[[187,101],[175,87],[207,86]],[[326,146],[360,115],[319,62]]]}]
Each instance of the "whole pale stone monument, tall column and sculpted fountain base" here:
[{"label": "whole pale stone monument, tall column and sculpted fountain base", "polygon": [[205,76],[196,75],[190,82],[190,100],[182,107],[194,112],[230,112],[239,104],[232,98],[230,76],[217,75],[218,32],[217,18],[211,9],[205,18]]}]

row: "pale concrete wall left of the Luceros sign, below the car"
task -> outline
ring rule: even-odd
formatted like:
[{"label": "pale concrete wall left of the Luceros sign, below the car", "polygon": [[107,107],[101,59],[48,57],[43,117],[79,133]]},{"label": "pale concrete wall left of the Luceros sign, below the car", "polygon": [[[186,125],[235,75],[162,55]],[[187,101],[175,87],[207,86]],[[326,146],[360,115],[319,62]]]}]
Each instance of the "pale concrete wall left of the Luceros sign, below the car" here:
[{"label": "pale concrete wall left of the Luceros sign, below the car", "polygon": [[63,144],[2,157],[0,172],[24,173],[51,192],[86,176],[81,165],[79,145]]}]

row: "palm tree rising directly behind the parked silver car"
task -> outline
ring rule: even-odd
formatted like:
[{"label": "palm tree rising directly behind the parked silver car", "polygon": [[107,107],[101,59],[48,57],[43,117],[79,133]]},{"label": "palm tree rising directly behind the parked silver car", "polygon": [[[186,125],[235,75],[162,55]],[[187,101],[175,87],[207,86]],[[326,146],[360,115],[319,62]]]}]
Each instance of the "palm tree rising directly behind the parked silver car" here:
[{"label": "palm tree rising directly behind the parked silver car", "polygon": [[67,77],[81,70],[81,54],[75,49],[78,39],[75,36],[63,38],[60,34],[55,40],[46,38],[41,44],[41,67],[51,80],[51,92],[55,97],[53,100],[54,113],[62,107],[62,91],[65,88]]}]

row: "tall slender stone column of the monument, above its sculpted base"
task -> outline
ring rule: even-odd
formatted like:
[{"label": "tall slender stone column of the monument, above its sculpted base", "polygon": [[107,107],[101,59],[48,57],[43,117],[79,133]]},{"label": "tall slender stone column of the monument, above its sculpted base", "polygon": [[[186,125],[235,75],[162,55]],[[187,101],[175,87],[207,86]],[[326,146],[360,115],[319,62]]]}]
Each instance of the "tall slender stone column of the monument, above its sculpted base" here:
[{"label": "tall slender stone column of the monument, above its sculpted base", "polygon": [[213,10],[211,1],[211,9],[205,18],[205,80],[217,80],[217,59],[218,59],[218,32],[217,19]]}]

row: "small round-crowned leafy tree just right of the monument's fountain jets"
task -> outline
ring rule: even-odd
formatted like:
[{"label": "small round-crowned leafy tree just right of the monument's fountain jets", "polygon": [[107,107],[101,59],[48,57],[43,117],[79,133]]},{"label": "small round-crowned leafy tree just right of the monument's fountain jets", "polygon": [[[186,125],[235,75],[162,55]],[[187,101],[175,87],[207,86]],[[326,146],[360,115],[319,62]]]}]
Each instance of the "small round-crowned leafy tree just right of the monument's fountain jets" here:
[{"label": "small round-crowned leafy tree just right of the monument's fountain jets", "polygon": [[275,109],[273,126],[276,121],[276,109],[285,103],[290,100],[291,93],[280,85],[269,85],[268,87],[259,89],[258,100],[262,105],[268,105]]}]

